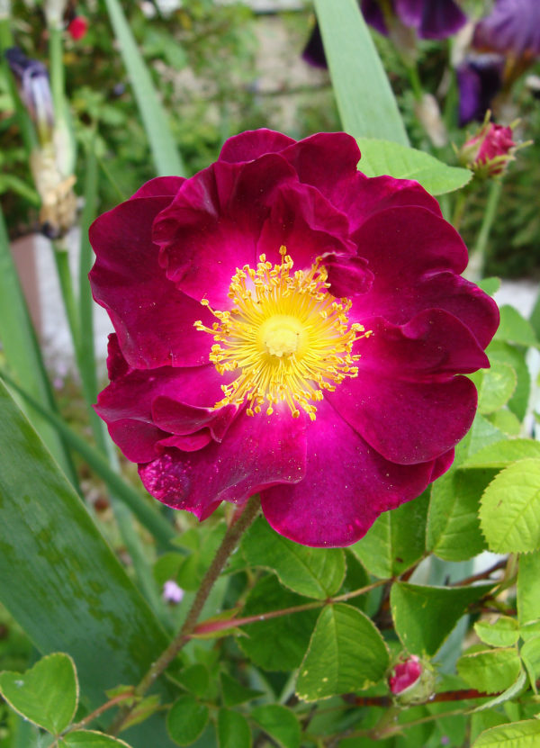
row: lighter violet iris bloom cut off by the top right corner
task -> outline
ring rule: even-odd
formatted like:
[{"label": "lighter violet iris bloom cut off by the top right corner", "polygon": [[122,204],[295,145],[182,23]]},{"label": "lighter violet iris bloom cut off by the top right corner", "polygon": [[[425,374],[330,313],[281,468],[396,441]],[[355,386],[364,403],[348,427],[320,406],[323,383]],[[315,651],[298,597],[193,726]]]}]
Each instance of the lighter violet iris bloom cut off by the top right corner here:
[{"label": "lighter violet iris bloom cut off by the top right corner", "polygon": [[539,0],[496,0],[491,14],[477,24],[473,44],[516,58],[540,57]]}]

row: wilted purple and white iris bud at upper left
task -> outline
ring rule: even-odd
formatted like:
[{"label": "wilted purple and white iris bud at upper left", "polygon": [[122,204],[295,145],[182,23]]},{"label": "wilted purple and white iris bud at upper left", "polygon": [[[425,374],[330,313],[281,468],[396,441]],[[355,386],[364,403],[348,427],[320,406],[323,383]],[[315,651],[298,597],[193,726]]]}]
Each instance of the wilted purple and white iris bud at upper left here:
[{"label": "wilted purple and white iris bud at upper left", "polygon": [[54,127],[54,109],[47,68],[37,59],[27,58],[18,47],[5,50],[5,59],[17,78],[23,104],[35,122],[41,144],[49,142]]}]

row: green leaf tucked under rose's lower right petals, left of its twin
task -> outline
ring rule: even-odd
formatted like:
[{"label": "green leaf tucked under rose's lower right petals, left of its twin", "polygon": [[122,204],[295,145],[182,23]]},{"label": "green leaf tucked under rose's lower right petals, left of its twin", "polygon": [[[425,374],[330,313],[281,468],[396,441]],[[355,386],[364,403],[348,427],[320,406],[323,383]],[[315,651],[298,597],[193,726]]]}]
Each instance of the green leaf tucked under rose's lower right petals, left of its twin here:
[{"label": "green leaf tucked under rose's lower right petals, left of its twin", "polygon": [[429,492],[384,512],[375,520],[367,534],[350,550],[371,572],[381,579],[390,579],[405,572],[426,551],[426,520]]}]

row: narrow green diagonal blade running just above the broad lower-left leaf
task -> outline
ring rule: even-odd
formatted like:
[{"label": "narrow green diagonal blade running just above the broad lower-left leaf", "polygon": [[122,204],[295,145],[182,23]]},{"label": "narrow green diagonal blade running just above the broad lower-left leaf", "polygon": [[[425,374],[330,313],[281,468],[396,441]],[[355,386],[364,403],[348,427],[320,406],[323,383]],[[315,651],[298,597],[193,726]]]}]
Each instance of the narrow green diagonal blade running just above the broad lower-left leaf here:
[{"label": "narrow green diagonal blade running just above the broad lower-left leaf", "polygon": [[0,376],[2,376],[10,387],[19,392],[24,400],[34,410],[38,411],[40,416],[47,419],[58,430],[58,433],[66,439],[67,444],[81,455],[94,472],[107,483],[110,490],[131,509],[135,517],[139,519],[140,524],[146,527],[148,532],[156,538],[157,543],[164,549],[170,550],[172,547],[170,541],[175,536],[175,531],[166,519],[158,514],[155,509],[151,509],[148,503],[139,496],[139,493],[131,488],[118,473],[112,470],[105,457],[93,446],[89,445],[84,438],[79,437],[56,413],[43,408],[38,401],[34,400],[28,392],[25,392],[22,387],[3,371],[0,371]]}]

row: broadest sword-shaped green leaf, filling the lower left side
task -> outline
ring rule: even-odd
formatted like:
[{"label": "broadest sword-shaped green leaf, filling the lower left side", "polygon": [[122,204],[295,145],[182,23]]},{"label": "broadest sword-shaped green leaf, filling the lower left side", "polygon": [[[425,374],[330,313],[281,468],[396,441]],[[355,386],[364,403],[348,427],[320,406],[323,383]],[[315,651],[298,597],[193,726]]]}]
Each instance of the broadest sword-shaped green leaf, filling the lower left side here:
[{"label": "broadest sword-shaped green leaf, filling the lower left side", "polygon": [[[73,657],[95,708],[105,689],[138,682],[167,638],[2,383],[0,412],[0,601],[40,653]],[[147,729],[166,748],[153,721],[140,741]]]}]

